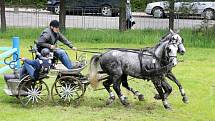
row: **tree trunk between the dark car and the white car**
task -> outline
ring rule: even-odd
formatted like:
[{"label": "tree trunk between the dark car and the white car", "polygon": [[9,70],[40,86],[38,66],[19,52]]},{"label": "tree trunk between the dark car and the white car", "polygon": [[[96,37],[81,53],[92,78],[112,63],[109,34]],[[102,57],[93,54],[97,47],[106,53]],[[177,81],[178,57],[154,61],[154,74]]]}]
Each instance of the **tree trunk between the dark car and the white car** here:
[{"label": "tree trunk between the dark car and the white car", "polygon": [[126,31],[126,1],[127,0],[120,0],[120,16],[119,16],[119,30],[120,31]]}]

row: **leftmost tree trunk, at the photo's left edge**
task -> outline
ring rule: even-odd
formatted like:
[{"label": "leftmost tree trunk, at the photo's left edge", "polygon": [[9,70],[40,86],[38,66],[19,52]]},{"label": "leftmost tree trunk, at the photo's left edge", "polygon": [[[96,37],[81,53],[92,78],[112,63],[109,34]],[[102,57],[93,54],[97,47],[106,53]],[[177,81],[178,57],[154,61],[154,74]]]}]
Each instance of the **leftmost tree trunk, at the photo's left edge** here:
[{"label": "leftmost tree trunk, at the photo's left edge", "polygon": [[1,31],[6,31],[6,18],[5,18],[5,1],[0,0],[0,7],[1,7]]}]

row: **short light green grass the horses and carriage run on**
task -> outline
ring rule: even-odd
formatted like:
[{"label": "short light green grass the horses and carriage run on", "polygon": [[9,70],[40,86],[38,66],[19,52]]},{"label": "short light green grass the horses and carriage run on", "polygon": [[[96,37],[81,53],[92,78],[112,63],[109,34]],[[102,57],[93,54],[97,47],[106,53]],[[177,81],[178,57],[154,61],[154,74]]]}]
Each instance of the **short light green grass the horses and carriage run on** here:
[{"label": "short light green grass the horses and carriage run on", "polygon": [[[8,38],[0,39],[0,45],[10,45]],[[27,52],[32,39],[22,40],[22,57],[29,57]],[[186,40],[185,40],[186,41]],[[147,45],[152,45],[153,42]],[[146,44],[119,43],[84,43],[76,42],[78,48],[126,47],[142,48]],[[9,97],[3,92],[5,82],[0,76],[0,120],[1,121],[215,121],[215,49],[187,47],[184,62],[174,68],[176,77],[182,83],[189,97],[189,104],[182,102],[177,86],[169,96],[173,110],[163,108],[161,101],[153,96],[155,89],[151,82],[131,80],[129,84],[145,95],[145,101],[139,102],[134,96],[123,89],[128,96],[130,107],[124,107],[117,99],[111,106],[106,106],[108,93],[105,90],[93,91],[89,86],[80,106],[53,106],[51,101],[46,105],[23,108],[15,97]],[[68,50],[73,60],[75,53]],[[90,58],[90,54],[88,57]],[[89,59],[88,58],[88,59]],[[84,74],[87,74],[87,69]],[[54,78],[46,80],[51,84]],[[100,86],[101,88],[102,86]]]}]

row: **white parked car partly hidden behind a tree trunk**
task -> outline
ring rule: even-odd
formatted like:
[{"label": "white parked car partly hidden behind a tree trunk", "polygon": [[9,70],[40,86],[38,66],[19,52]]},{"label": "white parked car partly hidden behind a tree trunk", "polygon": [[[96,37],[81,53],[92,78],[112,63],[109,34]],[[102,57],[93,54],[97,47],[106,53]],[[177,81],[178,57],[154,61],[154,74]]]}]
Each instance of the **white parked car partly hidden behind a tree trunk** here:
[{"label": "white parked car partly hidden behind a tree trunk", "polygon": [[[207,19],[215,18],[215,2],[209,0],[193,0],[192,2],[182,2],[175,0],[175,12],[177,14],[187,13],[189,15],[201,15]],[[166,17],[169,13],[169,2],[160,1],[148,3],[145,12],[155,18]]]}]

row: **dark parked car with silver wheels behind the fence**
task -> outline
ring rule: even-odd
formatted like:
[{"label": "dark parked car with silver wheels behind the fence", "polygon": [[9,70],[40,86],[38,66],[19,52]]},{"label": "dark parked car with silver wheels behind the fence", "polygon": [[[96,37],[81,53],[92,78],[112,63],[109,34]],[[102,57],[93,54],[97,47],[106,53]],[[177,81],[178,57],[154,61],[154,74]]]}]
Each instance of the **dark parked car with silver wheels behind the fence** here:
[{"label": "dark parked car with silver wheels behind the fence", "polygon": [[[103,16],[116,16],[120,0],[65,0],[66,11],[75,13],[100,13]],[[60,0],[48,0],[47,10],[60,13]]]}]

